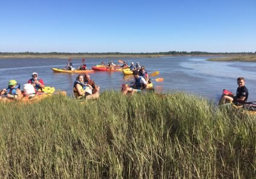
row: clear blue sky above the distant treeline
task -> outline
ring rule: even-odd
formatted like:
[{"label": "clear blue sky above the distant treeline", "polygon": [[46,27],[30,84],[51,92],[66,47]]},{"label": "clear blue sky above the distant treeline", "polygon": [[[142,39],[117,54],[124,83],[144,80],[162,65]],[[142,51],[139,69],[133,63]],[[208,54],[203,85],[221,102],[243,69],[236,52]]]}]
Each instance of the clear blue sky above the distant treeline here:
[{"label": "clear blue sky above the distant treeline", "polygon": [[0,1],[0,52],[256,51],[256,1]]}]

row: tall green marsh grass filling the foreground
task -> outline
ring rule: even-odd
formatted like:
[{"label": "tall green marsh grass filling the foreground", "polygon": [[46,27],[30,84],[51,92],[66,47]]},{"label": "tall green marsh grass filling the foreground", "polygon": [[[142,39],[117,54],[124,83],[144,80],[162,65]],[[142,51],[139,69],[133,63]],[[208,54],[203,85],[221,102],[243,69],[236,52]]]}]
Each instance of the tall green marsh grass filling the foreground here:
[{"label": "tall green marsh grass filling the foreground", "polygon": [[0,178],[254,178],[256,119],[184,93],[0,103]]}]

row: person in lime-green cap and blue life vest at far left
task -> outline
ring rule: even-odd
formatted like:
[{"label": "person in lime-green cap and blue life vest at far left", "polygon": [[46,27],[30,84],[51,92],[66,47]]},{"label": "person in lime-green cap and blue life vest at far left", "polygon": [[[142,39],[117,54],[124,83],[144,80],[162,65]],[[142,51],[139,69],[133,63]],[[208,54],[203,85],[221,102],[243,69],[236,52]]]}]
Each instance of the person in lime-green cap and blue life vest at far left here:
[{"label": "person in lime-green cap and blue life vest at far left", "polygon": [[21,100],[21,85],[19,85],[16,80],[10,80],[8,83],[8,88],[2,89],[0,91],[0,101],[1,100]]}]

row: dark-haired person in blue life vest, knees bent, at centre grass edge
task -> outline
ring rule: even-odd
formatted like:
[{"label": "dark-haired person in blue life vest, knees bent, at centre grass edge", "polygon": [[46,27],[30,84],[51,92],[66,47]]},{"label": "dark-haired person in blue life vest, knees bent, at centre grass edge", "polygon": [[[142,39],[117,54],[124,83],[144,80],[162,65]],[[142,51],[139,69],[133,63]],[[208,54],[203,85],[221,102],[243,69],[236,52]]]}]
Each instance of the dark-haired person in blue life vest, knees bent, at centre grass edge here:
[{"label": "dark-haired person in blue life vest, knees bent, at centre grass edge", "polygon": [[133,94],[134,92],[141,92],[143,89],[148,88],[148,82],[142,77],[139,76],[139,71],[133,71],[134,82],[122,88],[122,94],[126,95],[127,93]]}]

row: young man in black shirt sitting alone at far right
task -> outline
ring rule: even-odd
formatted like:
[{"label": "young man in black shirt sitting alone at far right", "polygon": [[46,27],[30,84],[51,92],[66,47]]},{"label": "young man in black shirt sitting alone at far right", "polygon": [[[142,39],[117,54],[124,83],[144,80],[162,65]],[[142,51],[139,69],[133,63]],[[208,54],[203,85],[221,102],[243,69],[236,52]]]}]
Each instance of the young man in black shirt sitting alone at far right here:
[{"label": "young man in black shirt sitting alone at far right", "polygon": [[223,94],[221,99],[220,99],[220,103],[225,104],[226,101],[230,102],[230,103],[243,103],[246,102],[246,100],[248,99],[248,89],[245,86],[245,78],[243,77],[238,77],[237,79],[237,93],[236,95],[226,95]]}]

